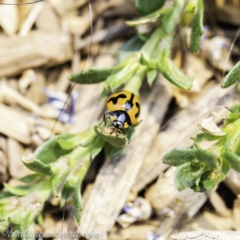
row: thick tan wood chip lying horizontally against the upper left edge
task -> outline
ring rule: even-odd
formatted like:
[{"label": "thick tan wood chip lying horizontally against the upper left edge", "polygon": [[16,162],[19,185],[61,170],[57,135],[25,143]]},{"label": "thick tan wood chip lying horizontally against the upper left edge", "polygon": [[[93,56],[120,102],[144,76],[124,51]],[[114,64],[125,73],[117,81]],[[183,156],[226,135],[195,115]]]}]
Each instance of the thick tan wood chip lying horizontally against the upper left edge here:
[{"label": "thick tan wood chip lying horizontally against the upper left edge", "polygon": [[62,32],[31,31],[26,37],[0,36],[0,77],[41,65],[53,66],[72,57],[71,38]]}]

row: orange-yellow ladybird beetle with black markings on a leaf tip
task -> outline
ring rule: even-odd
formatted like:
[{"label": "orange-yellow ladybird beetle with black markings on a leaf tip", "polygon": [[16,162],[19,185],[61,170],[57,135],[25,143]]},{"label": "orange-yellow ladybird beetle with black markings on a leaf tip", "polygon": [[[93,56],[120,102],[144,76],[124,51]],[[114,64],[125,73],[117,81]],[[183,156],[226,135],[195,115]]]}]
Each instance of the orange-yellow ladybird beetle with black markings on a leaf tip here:
[{"label": "orange-yellow ladybird beetle with black markings on a leaf tip", "polygon": [[139,118],[140,101],[135,94],[123,90],[109,96],[107,109],[109,112],[103,116],[105,126],[106,120],[110,119],[115,128],[126,128],[129,132],[131,125],[136,124]]}]

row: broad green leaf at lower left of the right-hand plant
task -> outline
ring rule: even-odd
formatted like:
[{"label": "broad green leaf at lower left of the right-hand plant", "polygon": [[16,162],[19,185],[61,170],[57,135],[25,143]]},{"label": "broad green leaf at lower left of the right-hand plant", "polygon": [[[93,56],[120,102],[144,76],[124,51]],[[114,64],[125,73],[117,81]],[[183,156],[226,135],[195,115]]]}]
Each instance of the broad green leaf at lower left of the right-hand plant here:
[{"label": "broad green leaf at lower left of the right-hand plant", "polygon": [[207,170],[206,165],[200,162],[192,164],[192,162],[184,163],[179,166],[175,172],[174,180],[179,191],[193,186],[198,183],[201,175]]}]

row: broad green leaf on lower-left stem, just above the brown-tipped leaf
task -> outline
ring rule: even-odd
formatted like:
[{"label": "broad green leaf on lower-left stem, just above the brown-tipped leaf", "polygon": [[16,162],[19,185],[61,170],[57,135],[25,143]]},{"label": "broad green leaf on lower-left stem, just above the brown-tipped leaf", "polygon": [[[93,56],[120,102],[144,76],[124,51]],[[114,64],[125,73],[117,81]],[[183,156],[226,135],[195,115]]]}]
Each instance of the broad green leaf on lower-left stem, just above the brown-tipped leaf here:
[{"label": "broad green leaf on lower-left stem, just above the brown-tipped leaf", "polygon": [[58,138],[61,136],[63,135],[54,136],[41,144],[34,152],[35,157],[41,162],[48,164],[69,153],[70,150],[64,150],[58,144]]}]

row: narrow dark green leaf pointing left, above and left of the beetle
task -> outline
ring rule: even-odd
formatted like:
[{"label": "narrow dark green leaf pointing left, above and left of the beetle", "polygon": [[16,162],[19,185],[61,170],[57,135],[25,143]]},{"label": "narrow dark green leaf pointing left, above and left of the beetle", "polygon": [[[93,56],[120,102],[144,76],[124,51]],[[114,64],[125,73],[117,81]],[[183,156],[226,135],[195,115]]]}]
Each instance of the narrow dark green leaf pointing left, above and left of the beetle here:
[{"label": "narrow dark green leaf pointing left, above and left of the beetle", "polygon": [[121,70],[122,66],[111,68],[91,68],[89,70],[73,73],[69,80],[79,84],[95,84],[105,81],[110,75]]}]

